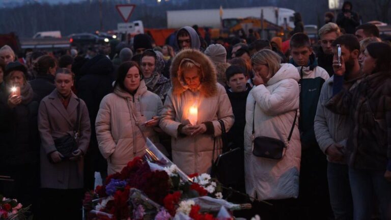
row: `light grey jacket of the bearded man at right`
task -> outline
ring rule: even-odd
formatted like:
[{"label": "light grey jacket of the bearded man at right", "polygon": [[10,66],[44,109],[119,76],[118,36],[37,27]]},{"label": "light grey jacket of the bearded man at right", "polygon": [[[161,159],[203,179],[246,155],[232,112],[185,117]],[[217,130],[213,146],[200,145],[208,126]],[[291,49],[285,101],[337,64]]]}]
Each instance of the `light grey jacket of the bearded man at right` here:
[{"label": "light grey jacket of the bearded man at right", "polygon": [[[325,153],[327,148],[334,143],[341,144],[345,147],[344,149],[346,149],[346,141],[350,130],[347,116],[335,114],[325,107],[327,101],[332,97],[333,81],[334,77],[331,76],[323,84],[314,120],[316,140],[323,153]],[[356,80],[348,81],[345,82],[345,84],[354,84],[355,81]],[[357,85],[357,83],[355,85]],[[340,163],[346,164],[346,161]]]}]

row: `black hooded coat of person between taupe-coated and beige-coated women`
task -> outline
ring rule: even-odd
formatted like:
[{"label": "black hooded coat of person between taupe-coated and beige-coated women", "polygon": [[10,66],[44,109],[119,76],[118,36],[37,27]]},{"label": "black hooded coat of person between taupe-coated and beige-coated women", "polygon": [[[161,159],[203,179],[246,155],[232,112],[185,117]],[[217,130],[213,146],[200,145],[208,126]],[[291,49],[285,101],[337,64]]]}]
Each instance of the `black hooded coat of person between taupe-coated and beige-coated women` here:
[{"label": "black hooded coat of person between taupe-coated and beige-coated women", "polygon": [[104,55],[98,54],[80,69],[82,74],[77,82],[77,96],[86,102],[90,115],[91,142],[89,153],[93,156],[97,171],[106,169],[106,160],[99,152],[96,140],[95,120],[103,97],[113,92],[112,75],[114,66]]}]

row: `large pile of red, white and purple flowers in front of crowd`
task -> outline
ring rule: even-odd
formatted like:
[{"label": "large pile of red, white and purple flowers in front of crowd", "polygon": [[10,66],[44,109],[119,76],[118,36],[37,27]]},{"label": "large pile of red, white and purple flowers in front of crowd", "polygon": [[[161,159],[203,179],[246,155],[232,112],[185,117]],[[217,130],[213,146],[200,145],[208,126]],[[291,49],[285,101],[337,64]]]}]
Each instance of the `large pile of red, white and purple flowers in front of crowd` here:
[{"label": "large pile of red, white and purple flowers in front of crowd", "polygon": [[87,219],[232,219],[227,211],[214,217],[221,207],[243,208],[222,200],[221,191],[210,175],[186,176],[152,145],[86,193],[83,208]]}]

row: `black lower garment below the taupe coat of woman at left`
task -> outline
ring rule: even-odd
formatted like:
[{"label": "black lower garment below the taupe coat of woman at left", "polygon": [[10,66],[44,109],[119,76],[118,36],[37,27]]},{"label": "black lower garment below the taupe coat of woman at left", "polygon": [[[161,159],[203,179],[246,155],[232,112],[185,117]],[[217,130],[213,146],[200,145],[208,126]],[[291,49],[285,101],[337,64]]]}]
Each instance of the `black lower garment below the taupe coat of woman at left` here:
[{"label": "black lower garment below the taupe coat of woman at left", "polygon": [[81,220],[83,196],[83,189],[42,188],[39,219]]}]

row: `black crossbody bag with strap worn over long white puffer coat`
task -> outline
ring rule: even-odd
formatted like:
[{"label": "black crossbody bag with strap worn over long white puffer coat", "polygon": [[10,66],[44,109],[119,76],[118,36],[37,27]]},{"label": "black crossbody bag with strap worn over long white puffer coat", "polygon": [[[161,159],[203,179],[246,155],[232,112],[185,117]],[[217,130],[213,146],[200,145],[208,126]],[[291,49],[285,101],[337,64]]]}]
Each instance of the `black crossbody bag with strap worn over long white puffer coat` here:
[{"label": "black crossbody bag with strap worn over long white puffer coat", "polygon": [[[255,103],[256,105],[257,103]],[[293,120],[292,128],[289,133],[286,143],[280,139],[275,139],[273,137],[259,136],[255,137],[255,105],[254,105],[254,115],[253,115],[253,155],[257,157],[264,157],[269,159],[281,159],[283,158],[285,151],[289,146],[289,141],[291,140],[293,129],[295,128],[297,110],[295,114],[295,119]]]}]

